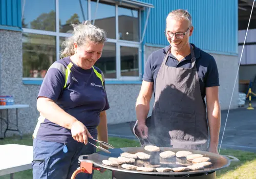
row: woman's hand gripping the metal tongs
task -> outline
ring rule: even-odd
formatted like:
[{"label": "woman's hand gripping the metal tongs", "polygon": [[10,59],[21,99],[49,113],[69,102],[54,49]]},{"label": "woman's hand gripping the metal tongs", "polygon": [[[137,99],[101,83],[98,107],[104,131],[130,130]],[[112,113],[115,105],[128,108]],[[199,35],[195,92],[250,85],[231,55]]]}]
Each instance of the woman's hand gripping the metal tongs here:
[{"label": "woman's hand gripping the metal tongs", "polygon": [[77,142],[88,143],[88,138],[92,138],[90,132],[83,123],[80,121],[75,121],[71,126],[71,135]]}]

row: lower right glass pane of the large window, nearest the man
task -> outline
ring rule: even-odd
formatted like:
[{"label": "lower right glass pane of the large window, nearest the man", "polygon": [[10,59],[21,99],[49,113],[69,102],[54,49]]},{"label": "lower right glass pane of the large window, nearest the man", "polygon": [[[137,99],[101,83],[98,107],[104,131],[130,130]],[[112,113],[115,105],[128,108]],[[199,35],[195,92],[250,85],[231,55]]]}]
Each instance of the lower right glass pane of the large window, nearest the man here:
[{"label": "lower right glass pane of the large window, nearest the man", "polygon": [[139,76],[139,49],[120,47],[121,76]]}]

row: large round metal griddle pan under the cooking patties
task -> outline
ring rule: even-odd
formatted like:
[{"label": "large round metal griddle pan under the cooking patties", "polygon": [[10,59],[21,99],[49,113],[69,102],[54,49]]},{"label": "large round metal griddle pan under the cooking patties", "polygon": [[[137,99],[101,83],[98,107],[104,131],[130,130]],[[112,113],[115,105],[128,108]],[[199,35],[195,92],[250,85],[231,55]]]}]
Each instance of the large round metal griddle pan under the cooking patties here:
[{"label": "large round metal griddle pan under the cooking patties", "polygon": [[[185,172],[145,172],[145,171],[137,171],[137,170],[127,170],[119,167],[112,167],[112,166],[106,166],[102,164],[102,160],[108,160],[110,157],[117,158],[120,156],[120,153],[128,152],[128,153],[137,153],[137,152],[145,152],[144,147],[128,147],[128,148],[116,148],[116,149],[110,149],[110,154],[105,152],[96,152],[91,155],[81,155],[79,157],[80,162],[80,169],[83,170],[82,172],[92,173],[92,170],[104,170],[109,169],[112,170],[112,178],[114,179],[120,179],[120,178],[140,178],[140,179],[151,179],[151,178],[160,178],[160,179],[167,179],[167,178],[177,178],[177,177],[193,177],[195,179],[214,179],[216,178],[216,170],[228,167],[230,165],[231,161],[239,161],[237,158],[234,158],[233,156],[226,155],[219,155],[215,153],[210,153],[206,151],[200,151],[200,150],[191,150],[191,149],[179,149],[179,148],[168,148],[168,147],[160,147],[160,152],[170,150],[173,152],[178,152],[180,150],[186,150],[190,151],[193,154],[202,154],[208,158],[211,159],[212,166],[209,168],[205,168],[203,170],[194,170],[194,171],[185,171]],[[153,161],[151,161],[152,164],[159,164],[161,160],[157,157],[157,155],[154,155],[152,158]],[[180,162],[177,160],[177,162]],[[172,164],[161,164],[161,167],[179,167],[184,166],[186,164],[181,163],[172,163]]]}]

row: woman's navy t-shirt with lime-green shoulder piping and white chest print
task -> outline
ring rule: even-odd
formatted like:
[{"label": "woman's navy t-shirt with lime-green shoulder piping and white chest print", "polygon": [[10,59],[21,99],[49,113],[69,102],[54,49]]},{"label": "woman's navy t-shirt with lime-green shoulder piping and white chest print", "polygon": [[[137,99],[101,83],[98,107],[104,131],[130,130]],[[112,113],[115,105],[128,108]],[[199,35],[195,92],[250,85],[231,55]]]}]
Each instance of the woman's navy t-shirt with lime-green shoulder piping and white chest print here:
[{"label": "woman's navy t-shirt with lime-green shoulder piping and white chest print", "polygon": [[[69,57],[55,61],[42,82],[38,97],[52,99],[68,114],[82,122],[92,135],[97,133],[100,112],[109,109],[104,83],[93,69],[83,70],[73,62],[71,73],[65,85],[65,69],[72,62]],[[95,70],[102,72],[94,66]],[[103,78],[104,79],[104,78]],[[44,117],[40,117],[42,119]],[[35,129],[36,130],[36,129]],[[74,140],[71,130],[43,119],[36,133],[36,138],[51,142],[68,142]]]}]

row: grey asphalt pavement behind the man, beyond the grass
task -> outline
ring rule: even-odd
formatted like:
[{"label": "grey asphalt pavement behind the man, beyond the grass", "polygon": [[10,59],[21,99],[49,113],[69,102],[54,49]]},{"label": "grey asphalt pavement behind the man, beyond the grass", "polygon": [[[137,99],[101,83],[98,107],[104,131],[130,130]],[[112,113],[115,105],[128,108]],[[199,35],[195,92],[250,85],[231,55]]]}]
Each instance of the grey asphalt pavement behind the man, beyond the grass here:
[{"label": "grey asphalt pavement behind the man, beyond the grass", "polygon": [[[246,109],[247,106],[229,110],[226,128],[224,131],[221,148],[232,148],[256,152],[256,103],[253,102],[254,110]],[[228,110],[221,111],[220,143],[226,122]],[[129,123],[109,125],[109,135],[135,139]]]}]

